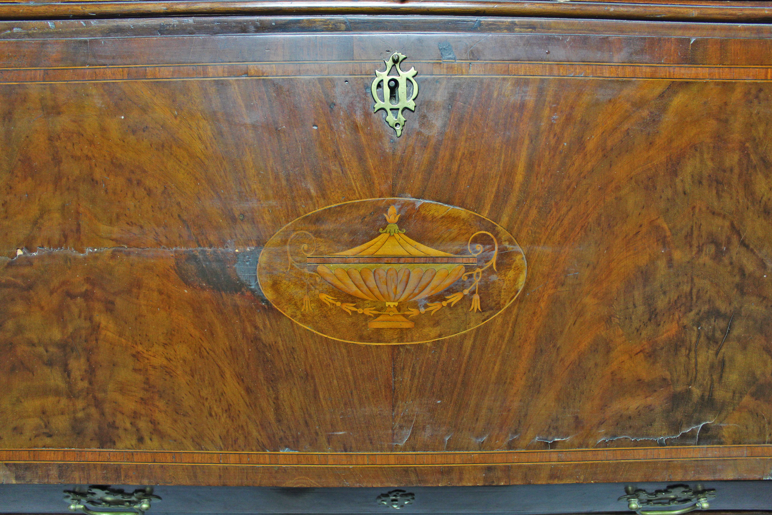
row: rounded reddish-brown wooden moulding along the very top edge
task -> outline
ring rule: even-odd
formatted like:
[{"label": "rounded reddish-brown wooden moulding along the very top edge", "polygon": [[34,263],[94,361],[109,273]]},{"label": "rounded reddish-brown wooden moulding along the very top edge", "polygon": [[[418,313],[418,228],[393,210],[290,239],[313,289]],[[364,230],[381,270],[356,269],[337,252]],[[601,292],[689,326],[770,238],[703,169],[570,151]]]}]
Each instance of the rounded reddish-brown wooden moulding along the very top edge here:
[{"label": "rounded reddish-brown wooden moulding along the very top edge", "polygon": [[4,2],[0,19],[97,19],[182,15],[462,15],[767,22],[772,2],[555,2],[554,0],[177,0],[165,2]]}]

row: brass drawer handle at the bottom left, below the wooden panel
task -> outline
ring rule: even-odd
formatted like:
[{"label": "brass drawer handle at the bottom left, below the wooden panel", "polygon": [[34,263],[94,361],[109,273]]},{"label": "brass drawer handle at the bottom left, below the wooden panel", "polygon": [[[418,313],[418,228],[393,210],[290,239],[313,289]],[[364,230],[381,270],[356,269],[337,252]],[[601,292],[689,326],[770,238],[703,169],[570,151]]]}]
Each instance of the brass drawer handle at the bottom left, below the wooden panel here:
[{"label": "brass drawer handle at the bottom left, below the wooden panel", "polygon": [[[86,515],[144,515],[150,510],[152,500],[161,500],[161,497],[153,495],[151,486],[128,493],[120,488],[92,485],[87,490],[65,490],[64,493],[69,510]],[[107,510],[91,510],[86,504]]]}]

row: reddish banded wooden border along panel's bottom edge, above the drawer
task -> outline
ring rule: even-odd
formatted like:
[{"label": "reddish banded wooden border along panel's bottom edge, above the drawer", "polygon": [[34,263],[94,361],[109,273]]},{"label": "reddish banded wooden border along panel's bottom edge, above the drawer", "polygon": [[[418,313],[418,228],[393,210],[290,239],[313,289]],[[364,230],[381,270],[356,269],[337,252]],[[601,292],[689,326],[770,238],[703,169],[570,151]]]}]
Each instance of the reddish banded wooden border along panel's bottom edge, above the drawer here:
[{"label": "reddish banded wooden border along panel's bottom edge, above the drawer", "polygon": [[0,450],[3,483],[448,486],[766,479],[772,446],[503,452]]}]

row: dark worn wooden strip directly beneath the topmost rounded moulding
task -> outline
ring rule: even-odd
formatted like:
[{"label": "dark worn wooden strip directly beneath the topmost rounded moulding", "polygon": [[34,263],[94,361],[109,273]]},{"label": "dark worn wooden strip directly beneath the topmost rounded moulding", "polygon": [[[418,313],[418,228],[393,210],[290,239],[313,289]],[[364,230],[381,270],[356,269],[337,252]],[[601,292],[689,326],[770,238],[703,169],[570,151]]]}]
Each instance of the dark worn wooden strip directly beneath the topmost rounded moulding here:
[{"label": "dark worn wooden strip directly beneath the topmost rounded moulding", "polygon": [[[0,6],[3,4],[0,3]],[[377,32],[422,32],[454,34],[550,34],[593,37],[602,40],[611,36],[621,37],[670,37],[686,39],[699,38],[704,44],[706,38],[713,38],[713,46],[726,44],[727,39],[767,39],[772,35],[769,24],[738,23],[696,23],[614,19],[560,19],[560,18],[507,18],[496,16],[459,15],[232,15],[194,16],[174,18],[124,18],[124,19],[57,19],[52,21],[0,21],[2,40],[18,39],[63,39],[63,38],[120,38],[158,36],[255,36],[260,34],[278,35],[325,33],[377,33]],[[594,42],[598,46],[600,41]],[[692,42],[692,45],[694,43]],[[576,48],[576,47],[574,47]],[[762,52],[756,52],[756,54]],[[687,56],[703,56],[704,52],[678,53],[682,59]],[[547,56],[542,54],[542,58]],[[748,56],[743,56],[747,59]],[[630,59],[633,59],[632,61]],[[651,59],[654,59],[653,57]],[[567,60],[567,59],[563,59]],[[630,53],[618,54],[616,60],[635,62]],[[415,62],[414,56],[411,61]],[[648,60],[647,62],[655,62]],[[670,61],[665,59],[664,63]],[[368,71],[369,73],[369,71]]]}]

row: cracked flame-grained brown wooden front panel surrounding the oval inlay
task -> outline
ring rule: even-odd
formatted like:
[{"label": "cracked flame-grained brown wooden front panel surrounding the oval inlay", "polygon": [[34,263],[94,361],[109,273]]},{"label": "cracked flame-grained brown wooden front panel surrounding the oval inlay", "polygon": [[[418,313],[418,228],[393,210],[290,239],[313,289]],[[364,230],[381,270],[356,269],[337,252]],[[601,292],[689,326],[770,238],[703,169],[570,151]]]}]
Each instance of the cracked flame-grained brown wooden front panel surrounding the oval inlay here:
[{"label": "cracked flame-grained brown wooden front panel surrounding the oval inlay", "polygon": [[[772,29],[164,38],[144,20],[115,37],[131,23],[80,39],[90,27],[17,22],[30,37],[0,42],[5,481],[768,475]],[[421,88],[400,138],[367,91],[395,50]],[[272,235],[391,197],[515,235],[516,309],[370,347],[269,304],[255,267]]]}]

